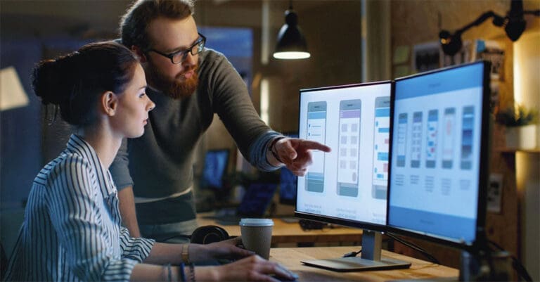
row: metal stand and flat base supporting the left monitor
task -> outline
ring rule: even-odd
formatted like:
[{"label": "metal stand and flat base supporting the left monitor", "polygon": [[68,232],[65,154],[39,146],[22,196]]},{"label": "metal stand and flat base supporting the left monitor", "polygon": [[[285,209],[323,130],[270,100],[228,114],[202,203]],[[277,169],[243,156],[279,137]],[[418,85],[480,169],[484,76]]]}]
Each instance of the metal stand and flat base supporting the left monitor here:
[{"label": "metal stand and flat base supporting the left monitor", "polygon": [[338,257],[335,259],[314,259],[302,261],[310,267],[320,267],[333,271],[364,271],[379,269],[406,269],[410,262],[390,257],[381,257],[383,235],[380,232],[364,229],[362,233],[361,257]]}]

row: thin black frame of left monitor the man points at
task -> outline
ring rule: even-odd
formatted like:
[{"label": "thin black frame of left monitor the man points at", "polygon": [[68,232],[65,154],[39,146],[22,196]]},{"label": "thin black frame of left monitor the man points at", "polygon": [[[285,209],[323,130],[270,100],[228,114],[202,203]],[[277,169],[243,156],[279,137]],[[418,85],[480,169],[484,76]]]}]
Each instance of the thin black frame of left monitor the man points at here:
[{"label": "thin black frame of left monitor the man points at", "polygon": [[[300,89],[299,97],[298,97],[298,108],[300,109],[302,105],[302,94],[305,92],[325,91],[325,90],[344,89],[344,88],[353,88],[353,87],[364,87],[364,86],[373,86],[373,85],[378,85],[378,84],[390,84],[390,100],[392,100],[391,97],[392,97],[393,82],[392,80],[383,80],[380,82],[365,82],[365,83],[356,83],[356,84],[343,84],[343,85],[337,85],[337,86],[323,86],[323,87],[316,87],[316,88],[309,88],[309,89]],[[390,113],[392,113],[392,104],[390,104],[390,109],[391,109]],[[298,118],[299,118],[298,120],[299,128],[297,132],[300,136],[300,112],[299,112]],[[390,118],[392,118],[392,116],[390,116]],[[391,142],[391,139],[389,141]],[[379,232],[387,231],[387,225],[383,225],[383,224],[375,224],[371,222],[360,222],[360,221],[355,221],[355,220],[342,219],[338,217],[330,217],[328,215],[323,215],[323,214],[311,214],[308,212],[298,211],[298,185],[297,185],[296,203],[295,203],[295,217],[314,220],[317,222],[325,222],[325,223],[330,223],[330,224],[349,226],[349,227],[353,227],[357,229],[367,229],[367,230],[379,231]]]}]

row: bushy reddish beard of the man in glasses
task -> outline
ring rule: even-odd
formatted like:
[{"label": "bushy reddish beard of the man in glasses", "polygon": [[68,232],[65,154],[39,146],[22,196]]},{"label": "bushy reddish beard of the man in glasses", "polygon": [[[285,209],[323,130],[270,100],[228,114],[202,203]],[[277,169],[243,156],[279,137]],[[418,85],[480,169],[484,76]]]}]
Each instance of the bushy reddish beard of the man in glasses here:
[{"label": "bushy reddish beard of the man in glasses", "polygon": [[153,63],[148,62],[148,68],[146,70],[146,79],[150,85],[156,89],[165,92],[173,99],[180,99],[191,96],[193,92],[197,89],[199,84],[199,76],[197,74],[198,65],[195,65],[193,68],[184,70],[181,74],[177,75],[180,77],[185,72],[193,70],[193,75],[184,79],[184,81],[179,81],[179,78],[169,79],[169,77],[163,75],[158,68],[155,68]]}]

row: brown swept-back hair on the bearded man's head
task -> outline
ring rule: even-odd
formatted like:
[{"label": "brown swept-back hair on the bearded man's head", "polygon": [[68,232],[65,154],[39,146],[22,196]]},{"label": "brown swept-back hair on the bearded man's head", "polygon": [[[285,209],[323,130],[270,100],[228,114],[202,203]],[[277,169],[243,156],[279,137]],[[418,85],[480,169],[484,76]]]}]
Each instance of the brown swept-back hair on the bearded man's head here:
[{"label": "brown swept-back hair on the bearded man's head", "polygon": [[182,20],[194,12],[193,0],[137,0],[120,20],[122,44],[146,51],[151,46],[146,27],[153,20],[160,17]]}]

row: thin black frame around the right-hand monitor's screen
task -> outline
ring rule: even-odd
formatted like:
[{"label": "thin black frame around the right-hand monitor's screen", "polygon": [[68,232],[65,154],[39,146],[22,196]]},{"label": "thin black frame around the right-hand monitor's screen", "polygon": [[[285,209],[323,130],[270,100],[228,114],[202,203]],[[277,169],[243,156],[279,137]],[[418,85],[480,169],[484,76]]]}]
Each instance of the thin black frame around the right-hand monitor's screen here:
[{"label": "thin black frame around the right-hand monitor's screen", "polygon": [[[487,60],[479,60],[473,63],[465,63],[461,65],[453,65],[446,68],[439,68],[437,70],[432,70],[428,72],[418,73],[416,75],[409,75],[406,77],[399,77],[394,79],[392,83],[392,94],[390,96],[390,108],[394,109],[395,98],[396,98],[396,84],[400,81],[407,79],[413,79],[416,77],[422,77],[425,75],[432,75],[437,72],[444,72],[447,70],[455,70],[457,68],[466,68],[471,65],[483,65],[483,77],[482,77],[482,121],[481,121],[481,130],[480,130],[480,175],[478,179],[478,200],[477,200],[477,218],[476,218],[476,231],[475,239],[472,243],[468,244],[463,241],[451,240],[443,236],[436,236],[435,234],[430,233],[420,233],[415,231],[410,231],[408,229],[403,229],[401,227],[390,225],[390,191],[392,189],[390,183],[392,180],[392,165],[388,167],[388,190],[387,190],[387,232],[397,233],[404,236],[410,236],[413,238],[422,239],[425,241],[430,241],[433,243],[439,243],[441,245],[449,245],[454,248],[459,248],[462,250],[473,250],[477,248],[477,245],[483,245],[486,241],[485,233],[485,223],[486,223],[486,214],[487,214],[487,184],[489,179],[489,149],[490,149],[490,125],[489,125],[489,100],[490,100],[490,63]],[[394,114],[395,111],[390,111],[390,148],[389,148],[389,159],[392,160],[392,150],[393,150],[393,132],[394,132]]]}]

